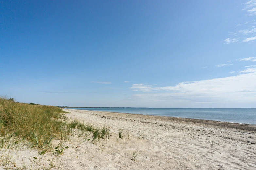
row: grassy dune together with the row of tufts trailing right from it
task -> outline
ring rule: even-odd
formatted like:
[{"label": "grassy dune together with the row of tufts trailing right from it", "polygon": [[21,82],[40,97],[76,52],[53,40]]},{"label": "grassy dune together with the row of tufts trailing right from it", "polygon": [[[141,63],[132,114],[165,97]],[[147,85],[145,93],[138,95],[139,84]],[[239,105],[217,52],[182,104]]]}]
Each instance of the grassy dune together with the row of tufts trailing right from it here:
[{"label": "grassy dune together with the row of tufts trailing right from it", "polygon": [[[110,137],[110,129],[106,126],[95,127],[77,120],[63,121],[62,109],[55,106],[31,105],[0,98],[0,148],[12,136],[23,138],[31,146],[51,149],[52,140],[69,140],[77,133],[77,137],[87,138],[92,133],[92,142]],[[2,143],[1,143],[2,141]]]}]

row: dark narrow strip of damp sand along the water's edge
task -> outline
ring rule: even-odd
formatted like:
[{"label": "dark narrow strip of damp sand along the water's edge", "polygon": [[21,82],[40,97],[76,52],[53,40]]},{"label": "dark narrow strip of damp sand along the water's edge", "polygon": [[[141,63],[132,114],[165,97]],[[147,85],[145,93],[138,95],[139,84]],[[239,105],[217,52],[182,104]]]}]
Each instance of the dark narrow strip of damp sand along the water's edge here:
[{"label": "dark narrow strip of damp sand along the water's edge", "polygon": [[[67,109],[67,108],[64,108]],[[79,109],[71,109],[71,110],[79,110]],[[80,111],[92,111],[92,110],[80,110]],[[107,111],[95,111],[95,112],[107,112]],[[129,114],[129,115],[144,115],[137,113],[121,113],[121,112],[107,112],[107,113],[117,113],[117,114]],[[180,117],[171,117],[171,116],[159,116],[159,115],[144,115],[150,117],[161,117],[164,120],[170,121],[182,121],[182,122],[191,122],[191,123],[199,123],[206,125],[213,125],[219,127],[227,127],[233,129],[247,130],[256,132],[255,124],[247,124],[247,123],[232,123],[232,122],[224,122],[224,121],[216,121],[216,120],[205,120],[205,119],[195,119],[195,118],[180,118]]]}]

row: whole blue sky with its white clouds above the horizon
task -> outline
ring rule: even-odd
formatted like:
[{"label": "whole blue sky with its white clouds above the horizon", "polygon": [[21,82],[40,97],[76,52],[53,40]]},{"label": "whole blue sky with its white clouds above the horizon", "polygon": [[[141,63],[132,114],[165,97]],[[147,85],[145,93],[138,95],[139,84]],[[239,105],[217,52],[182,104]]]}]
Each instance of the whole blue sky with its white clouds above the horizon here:
[{"label": "whole blue sky with its white clouds above the horizon", "polygon": [[0,95],[256,107],[256,0],[0,1]]}]

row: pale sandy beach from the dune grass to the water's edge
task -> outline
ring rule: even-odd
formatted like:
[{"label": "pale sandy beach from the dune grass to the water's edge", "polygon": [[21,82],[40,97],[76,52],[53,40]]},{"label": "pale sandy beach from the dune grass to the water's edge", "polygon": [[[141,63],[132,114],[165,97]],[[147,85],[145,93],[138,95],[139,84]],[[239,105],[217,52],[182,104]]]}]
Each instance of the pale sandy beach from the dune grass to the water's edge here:
[{"label": "pale sandy beach from the dune grass to the water's edge", "polygon": [[[65,142],[62,155],[35,149],[1,149],[16,160],[37,166],[76,169],[256,169],[256,126],[208,120],[64,109],[66,116],[111,128],[110,139],[92,144],[82,136]],[[118,129],[130,132],[119,139]],[[142,134],[142,135],[141,135]],[[138,137],[141,135],[141,138]],[[58,143],[58,141],[55,141]],[[140,153],[131,160],[134,151]],[[21,162],[22,160],[22,162]],[[1,169],[1,168],[0,168]],[[29,169],[29,168],[28,168]],[[33,169],[33,168],[32,168]]]}]

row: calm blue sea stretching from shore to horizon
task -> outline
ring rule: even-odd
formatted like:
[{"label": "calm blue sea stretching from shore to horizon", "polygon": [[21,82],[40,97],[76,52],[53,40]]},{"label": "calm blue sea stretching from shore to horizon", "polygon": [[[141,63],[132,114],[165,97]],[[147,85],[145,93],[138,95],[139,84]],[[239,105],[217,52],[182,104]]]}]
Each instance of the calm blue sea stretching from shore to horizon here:
[{"label": "calm blue sea stretching from shore to horizon", "polygon": [[72,108],[256,124],[256,108]]}]

